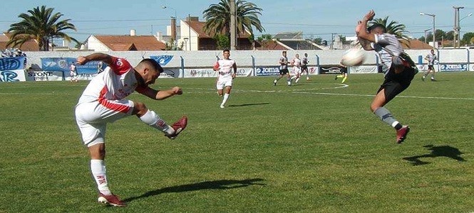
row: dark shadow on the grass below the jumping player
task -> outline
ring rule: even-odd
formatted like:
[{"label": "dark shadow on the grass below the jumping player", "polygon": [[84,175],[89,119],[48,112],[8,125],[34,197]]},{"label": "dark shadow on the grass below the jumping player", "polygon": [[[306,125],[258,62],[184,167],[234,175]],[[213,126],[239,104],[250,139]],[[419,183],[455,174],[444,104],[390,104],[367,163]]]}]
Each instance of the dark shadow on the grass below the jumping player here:
[{"label": "dark shadow on the grass below the jumping player", "polygon": [[403,160],[410,161],[413,165],[425,165],[429,164],[429,162],[420,160],[420,158],[437,158],[437,157],[447,157],[452,158],[453,160],[458,160],[459,162],[467,161],[460,155],[463,154],[459,151],[458,148],[454,148],[452,146],[433,146],[433,145],[426,145],[423,146],[428,148],[431,153],[425,155],[416,155],[411,157],[405,157]]}]

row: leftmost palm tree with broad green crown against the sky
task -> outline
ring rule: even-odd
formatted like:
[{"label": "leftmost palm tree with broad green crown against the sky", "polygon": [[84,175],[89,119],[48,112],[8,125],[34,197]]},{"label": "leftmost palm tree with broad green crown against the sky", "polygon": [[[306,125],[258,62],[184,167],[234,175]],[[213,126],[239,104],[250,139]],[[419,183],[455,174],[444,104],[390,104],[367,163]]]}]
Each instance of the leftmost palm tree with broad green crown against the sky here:
[{"label": "leftmost palm tree with broad green crown against the sky", "polygon": [[53,10],[53,8],[46,8],[46,6],[41,6],[41,8],[38,6],[29,10],[29,14],[21,13],[18,17],[23,20],[10,25],[8,33],[11,33],[11,36],[6,45],[21,47],[26,41],[34,39],[38,43],[39,50],[48,51],[49,40],[53,38],[63,38],[78,43],[78,40],[62,32],[67,29],[77,31],[76,26],[69,23],[71,19],[58,21],[63,14],[53,14]]}]

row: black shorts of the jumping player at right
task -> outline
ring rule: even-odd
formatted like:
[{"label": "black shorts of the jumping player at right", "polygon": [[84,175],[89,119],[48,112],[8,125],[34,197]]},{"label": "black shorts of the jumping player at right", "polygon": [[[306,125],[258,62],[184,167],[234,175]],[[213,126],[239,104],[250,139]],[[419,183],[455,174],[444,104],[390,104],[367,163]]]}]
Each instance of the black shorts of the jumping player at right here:
[{"label": "black shorts of the jumping player at right", "polygon": [[410,86],[411,80],[413,80],[417,72],[418,70],[413,67],[405,67],[403,72],[396,74],[392,66],[385,76],[383,84],[378,88],[377,93],[385,89],[385,103],[390,102],[391,99]]}]

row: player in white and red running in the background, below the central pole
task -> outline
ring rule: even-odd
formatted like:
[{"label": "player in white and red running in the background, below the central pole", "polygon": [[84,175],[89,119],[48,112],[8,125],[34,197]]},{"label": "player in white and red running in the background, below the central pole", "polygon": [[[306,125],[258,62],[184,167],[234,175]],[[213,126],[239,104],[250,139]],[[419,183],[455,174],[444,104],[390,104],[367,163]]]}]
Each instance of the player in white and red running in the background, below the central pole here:
[{"label": "player in white and red running in the background, below the central pole", "polygon": [[237,75],[237,64],[235,64],[235,60],[230,59],[230,50],[222,51],[222,56],[224,59],[217,60],[216,64],[214,65],[214,71],[218,71],[219,75],[217,75],[217,94],[222,97],[225,88],[224,98],[222,99],[222,103],[220,104],[220,108],[225,108],[225,103],[230,96],[230,90],[232,89],[232,81],[234,80],[235,76]]}]

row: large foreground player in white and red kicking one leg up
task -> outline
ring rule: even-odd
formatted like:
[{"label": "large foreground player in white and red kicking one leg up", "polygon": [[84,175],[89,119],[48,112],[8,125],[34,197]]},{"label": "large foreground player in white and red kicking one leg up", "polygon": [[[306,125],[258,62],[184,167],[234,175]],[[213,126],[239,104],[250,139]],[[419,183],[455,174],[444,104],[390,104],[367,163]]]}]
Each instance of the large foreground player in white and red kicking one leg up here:
[{"label": "large foreground player in white and red kicking one leg up", "polygon": [[91,172],[96,180],[99,197],[98,202],[113,206],[125,204],[108,188],[105,174],[105,127],[125,116],[136,115],[141,121],[165,133],[168,138],[174,139],[187,125],[187,117],[183,116],[172,126],[145,107],[141,102],[125,99],[134,91],[151,99],[162,100],[175,94],[182,94],[180,87],[168,90],[155,90],[148,85],[163,72],[158,62],[152,59],[143,59],[136,67],[123,58],[116,58],[103,53],[93,53],[77,58],[79,65],[90,61],[103,61],[108,67],[91,80],[76,105],[76,123],[83,143],[91,155]]}]

